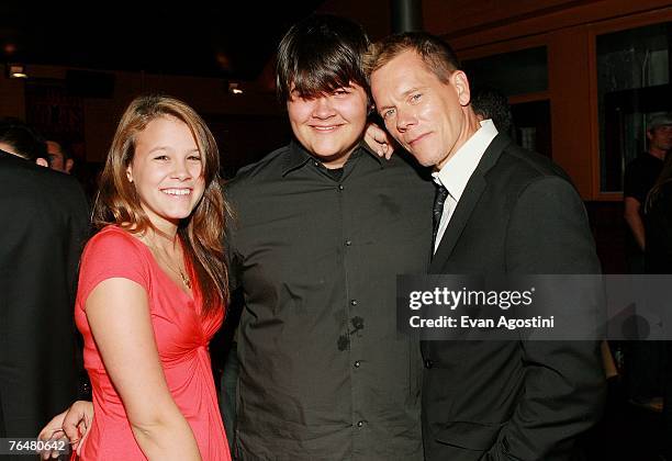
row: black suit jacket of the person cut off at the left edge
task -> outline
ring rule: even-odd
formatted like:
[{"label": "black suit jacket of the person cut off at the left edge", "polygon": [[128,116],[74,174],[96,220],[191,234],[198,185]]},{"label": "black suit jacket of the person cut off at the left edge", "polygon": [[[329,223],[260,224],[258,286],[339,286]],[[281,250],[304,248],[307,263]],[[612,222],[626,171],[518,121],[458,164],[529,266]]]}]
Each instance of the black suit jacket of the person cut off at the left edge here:
[{"label": "black suit jacket of the person cut off at the left edge", "polygon": [[0,428],[36,437],[77,396],[72,321],[88,204],[77,181],[0,151]]}]

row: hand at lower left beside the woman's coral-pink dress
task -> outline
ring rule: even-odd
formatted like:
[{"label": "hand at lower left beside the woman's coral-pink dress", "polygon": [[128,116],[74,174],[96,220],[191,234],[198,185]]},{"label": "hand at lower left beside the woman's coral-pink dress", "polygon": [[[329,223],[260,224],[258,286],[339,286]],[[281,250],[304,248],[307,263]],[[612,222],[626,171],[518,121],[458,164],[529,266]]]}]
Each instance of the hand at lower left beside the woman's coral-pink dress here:
[{"label": "hand at lower left beside the woman's coral-pink dress", "polygon": [[[40,440],[68,439],[72,451],[80,454],[81,446],[93,421],[93,404],[87,401],[77,401],[65,412],[54,418],[40,431]],[[57,451],[43,451],[40,453],[43,460],[58,458]]]}]

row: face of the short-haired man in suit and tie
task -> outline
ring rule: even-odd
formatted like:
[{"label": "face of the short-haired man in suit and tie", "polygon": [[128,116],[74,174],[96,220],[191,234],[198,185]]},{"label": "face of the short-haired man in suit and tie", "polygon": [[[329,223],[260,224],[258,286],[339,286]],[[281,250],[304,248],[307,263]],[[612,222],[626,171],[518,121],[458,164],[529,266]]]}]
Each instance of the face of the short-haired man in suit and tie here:
[{"label": "face of the short-haired man in suit and tie", "polygon": [[414,50],[376,70],[371,91],[390,134],[426,167],[440,169],[478,130],[464,72],[444,83]]}]

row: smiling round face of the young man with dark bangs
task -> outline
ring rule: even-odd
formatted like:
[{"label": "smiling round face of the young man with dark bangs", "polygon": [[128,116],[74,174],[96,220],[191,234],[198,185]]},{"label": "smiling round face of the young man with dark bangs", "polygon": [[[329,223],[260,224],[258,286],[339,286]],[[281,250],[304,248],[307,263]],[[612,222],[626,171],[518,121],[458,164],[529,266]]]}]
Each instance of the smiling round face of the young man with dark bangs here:
[{"label": "smiling round face of the young man with dark bangs", "polygon": [[367,109],[367,93],[356,83],[314,99],[292,92],[287,102],[294,136],[327,168],[346,162],[363,134]]}]

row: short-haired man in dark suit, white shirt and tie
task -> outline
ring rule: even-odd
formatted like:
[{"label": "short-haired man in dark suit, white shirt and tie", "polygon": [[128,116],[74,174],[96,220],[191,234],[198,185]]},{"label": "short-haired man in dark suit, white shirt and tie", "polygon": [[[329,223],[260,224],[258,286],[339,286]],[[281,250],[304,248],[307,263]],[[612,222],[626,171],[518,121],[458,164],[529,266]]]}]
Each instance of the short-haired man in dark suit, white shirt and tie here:
[{"label": "short-haired man in dark suit, white shirt and tie", "polygon": [[[406,33],[368,56],[388,131],[435,169],[430,273],[598,273],[583,203],[550,160],[479,122],[448,45]],[[440,204],[440,202],[439,202]],[[438,216],[437,216],[438,214]],[[427,460],[568,460],[601,414],[597,341],[424,341]]]}]

